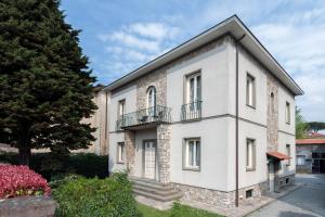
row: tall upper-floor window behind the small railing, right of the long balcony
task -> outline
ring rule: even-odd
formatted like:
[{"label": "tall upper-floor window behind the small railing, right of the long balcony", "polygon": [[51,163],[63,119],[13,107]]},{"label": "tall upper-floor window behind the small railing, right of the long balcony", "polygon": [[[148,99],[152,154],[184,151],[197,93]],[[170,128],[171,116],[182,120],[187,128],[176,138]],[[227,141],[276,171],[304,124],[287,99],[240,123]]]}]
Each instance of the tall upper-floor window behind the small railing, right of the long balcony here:
[{"label": "tall upper-floor window behind the small railing, right of the long balcony", "polygon": [[191,110],[200,110],[200,100],[202,100],[202,81],[200,73],[186,77],[186,103],[190,103]]}]

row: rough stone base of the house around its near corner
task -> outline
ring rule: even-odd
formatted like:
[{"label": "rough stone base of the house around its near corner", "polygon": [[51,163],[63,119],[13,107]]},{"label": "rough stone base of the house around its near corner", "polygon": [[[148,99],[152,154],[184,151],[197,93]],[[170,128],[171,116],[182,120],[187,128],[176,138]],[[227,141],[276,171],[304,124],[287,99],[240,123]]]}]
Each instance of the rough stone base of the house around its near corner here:
[{"label": "rough stone base of the house around its near corner", "polygon": [[[220,208],[231,208],[235,206],[235,191],[217,191],[179,183],[173,183],[173,186],[183,193],[183,199],[186,201],[197,201]],[[246,191],[250,189],[252,189],[252,199],[259,199],[266,193],[268,183],[261,182],[259,184],[239,189],[239,203],[246,201]]]}]

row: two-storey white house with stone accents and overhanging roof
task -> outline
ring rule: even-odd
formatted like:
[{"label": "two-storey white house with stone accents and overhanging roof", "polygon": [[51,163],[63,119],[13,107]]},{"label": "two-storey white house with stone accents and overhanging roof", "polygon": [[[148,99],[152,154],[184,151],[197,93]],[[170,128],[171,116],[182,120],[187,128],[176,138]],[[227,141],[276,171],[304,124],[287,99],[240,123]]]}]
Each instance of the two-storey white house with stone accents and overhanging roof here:
[{"label": "two-storey white house with stone accents and overhanging roof", "polygon": [[295,181],[303,92],[237,16],[102,91],[109,170],[127,169],[138,194],[229,207]]}]

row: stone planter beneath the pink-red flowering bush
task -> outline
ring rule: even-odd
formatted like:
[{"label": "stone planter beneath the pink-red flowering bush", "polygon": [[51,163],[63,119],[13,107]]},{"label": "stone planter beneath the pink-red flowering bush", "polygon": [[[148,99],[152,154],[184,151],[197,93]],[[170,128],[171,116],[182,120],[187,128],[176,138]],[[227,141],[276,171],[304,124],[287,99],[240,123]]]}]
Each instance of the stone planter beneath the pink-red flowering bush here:
[{"label": "stone planter beneath the pink-red flowering bush", "polygon": [[0,200],[1,217],[52,217],[56,203],[50,196],[18,196]]}]

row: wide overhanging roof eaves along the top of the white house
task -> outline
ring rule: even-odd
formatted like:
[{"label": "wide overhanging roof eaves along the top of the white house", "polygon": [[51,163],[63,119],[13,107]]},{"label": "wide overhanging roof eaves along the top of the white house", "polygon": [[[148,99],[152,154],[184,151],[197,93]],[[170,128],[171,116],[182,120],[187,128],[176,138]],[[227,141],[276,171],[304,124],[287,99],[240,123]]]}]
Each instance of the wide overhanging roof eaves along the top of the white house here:
[{"label": "wide overhanging roof eaves along the top of the white house", "polygon": [[194,38],[127,74],[126,76],[113,81],[106,86],[104,90],[114,90],[225,34],[230,34],[235,38],[240,38],[245,35],[245,37],[240,40],[240,44],[244,46],[252,55],[258,56],[259,62],[262,63],[278,80],[281,80],[281,82],[286,86],[292,92],[292,94],[303,94],[302,89],[295,82],[288,73],[276,62],[271,53],[261,44],[261,42],[236,15],[231,16],[230,18],[217,24],[206,31],[195,36]]}]

